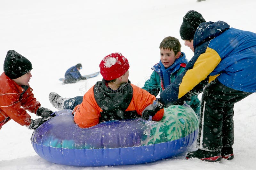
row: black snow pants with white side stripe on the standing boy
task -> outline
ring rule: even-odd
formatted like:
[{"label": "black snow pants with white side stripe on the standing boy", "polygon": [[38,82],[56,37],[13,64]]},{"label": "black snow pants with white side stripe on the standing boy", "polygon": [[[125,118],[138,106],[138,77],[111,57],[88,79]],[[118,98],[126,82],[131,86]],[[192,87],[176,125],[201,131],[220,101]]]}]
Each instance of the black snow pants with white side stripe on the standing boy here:
[{"label": "black snow pants with white side stripe on the standing boy", "polygon": [[220,151],[234,144],[234,104],[252,93],[231,89],[215,79],[202,96],[197,148]]}]

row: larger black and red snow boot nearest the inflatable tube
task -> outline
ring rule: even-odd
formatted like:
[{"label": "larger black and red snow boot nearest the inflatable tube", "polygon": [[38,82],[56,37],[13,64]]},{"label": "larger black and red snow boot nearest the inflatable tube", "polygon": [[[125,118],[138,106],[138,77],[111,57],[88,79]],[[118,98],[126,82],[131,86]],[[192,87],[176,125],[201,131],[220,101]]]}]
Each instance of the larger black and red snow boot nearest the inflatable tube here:
[{"label": "larger black and red snow boot nearest the inflatable tube", "polygon": [[198,149],[193,152],[188,152],[186,159],[198,158],[208,162],[218,162],[221,160],[221,154],[217,151],[205,151]]}]

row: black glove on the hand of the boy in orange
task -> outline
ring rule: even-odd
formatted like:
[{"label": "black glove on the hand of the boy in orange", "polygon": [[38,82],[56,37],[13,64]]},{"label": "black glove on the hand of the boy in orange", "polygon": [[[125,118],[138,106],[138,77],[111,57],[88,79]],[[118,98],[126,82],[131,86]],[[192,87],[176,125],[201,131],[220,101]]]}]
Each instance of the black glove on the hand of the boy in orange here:
[{"label": "black glove on the hand of the boy in orange", "polygon": [[149,116],[155,116],[156,112],[163,109],[164,105],[158,102],[158,99],[153,101],[153,104],[148,105],[141,113],[142,119],[148,120]]}]

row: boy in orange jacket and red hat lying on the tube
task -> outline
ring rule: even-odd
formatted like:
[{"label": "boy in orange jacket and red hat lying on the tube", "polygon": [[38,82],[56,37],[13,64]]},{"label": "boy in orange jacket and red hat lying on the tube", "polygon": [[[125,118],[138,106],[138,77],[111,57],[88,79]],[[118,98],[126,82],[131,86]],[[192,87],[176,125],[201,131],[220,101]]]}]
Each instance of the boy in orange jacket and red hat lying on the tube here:
[{"label": "boy in orange jacket and red hat lying on the tube", "polygon": [[[121,53],[111,53],[100,62],[103,80],[89,89],[82,103],[73,110],[74,121],[79,127],[88,128],[103,121],[138,117],[148,120],[152,116],[155,121],[162,119],[163,109],[156,109],[155,112],[144,110],[156,97],[131,84],[128,80],[129,67],[128,60]],[[71,109],[70,102],[76,103],[74,99],[62,98],[54,92],[50,93],[49,100],[59,110]]]}]

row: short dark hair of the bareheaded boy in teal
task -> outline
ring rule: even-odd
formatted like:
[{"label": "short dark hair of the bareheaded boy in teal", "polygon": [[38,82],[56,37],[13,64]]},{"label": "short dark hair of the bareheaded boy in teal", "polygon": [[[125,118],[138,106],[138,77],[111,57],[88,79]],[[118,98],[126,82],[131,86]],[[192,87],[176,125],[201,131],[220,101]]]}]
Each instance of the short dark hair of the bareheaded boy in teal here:
[{"label": "short dark hair of the bareheaded boy in teal", "polygon": [[164,50],[165,49],[173,50],[175,55],[178,52],[180,52],[180,47],[181,47],[180,41],[175,37],[165,37],[159,46],[160,49],[163,48]]}]

